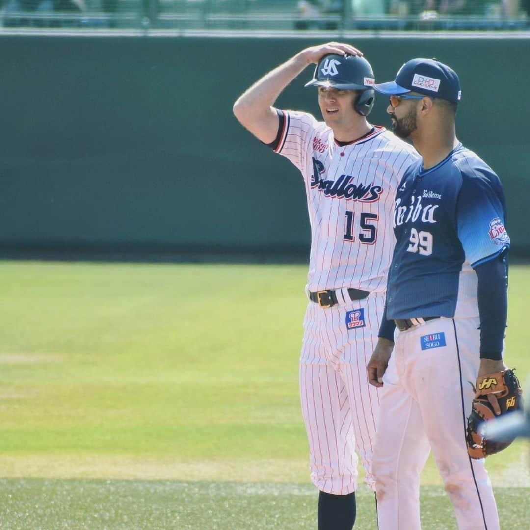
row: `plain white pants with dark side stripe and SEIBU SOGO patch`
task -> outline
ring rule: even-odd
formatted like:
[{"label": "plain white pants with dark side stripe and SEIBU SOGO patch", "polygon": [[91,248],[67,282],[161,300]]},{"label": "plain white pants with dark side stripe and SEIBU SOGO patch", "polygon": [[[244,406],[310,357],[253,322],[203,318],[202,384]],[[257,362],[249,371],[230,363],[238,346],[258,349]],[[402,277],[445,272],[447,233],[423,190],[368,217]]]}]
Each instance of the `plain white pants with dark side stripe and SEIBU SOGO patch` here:
[{"label": "plain white pants with dark side stripe and SEIBU SOGO patch", "polygon": [[430,448],[458,528],[499,530],[484,460],[467,454],[466,420],[479,369],[478,318],[437,319],[396,330],[383,376],[373,455],[381,530],[420,526],[420,472]]}]

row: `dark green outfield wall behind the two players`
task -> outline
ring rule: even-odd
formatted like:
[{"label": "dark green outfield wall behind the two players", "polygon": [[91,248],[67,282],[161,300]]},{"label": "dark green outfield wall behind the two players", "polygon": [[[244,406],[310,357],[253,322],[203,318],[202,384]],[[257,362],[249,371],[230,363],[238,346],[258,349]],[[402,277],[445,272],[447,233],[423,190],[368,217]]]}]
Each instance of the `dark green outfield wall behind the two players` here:
[{"label": "dark green outfield wall behind the two players", "polygon": [[[0,38],[0,251],[306,252],[301,175],[234,119],[263,73],[322,39]],[[504,182],[530,252],[530,39],[352,40],[391,80],[436,57],[460,74],[458,137]],[[307,70],[278,107],[319,115]],[[385,99],[370,116],[387,125]]]}]

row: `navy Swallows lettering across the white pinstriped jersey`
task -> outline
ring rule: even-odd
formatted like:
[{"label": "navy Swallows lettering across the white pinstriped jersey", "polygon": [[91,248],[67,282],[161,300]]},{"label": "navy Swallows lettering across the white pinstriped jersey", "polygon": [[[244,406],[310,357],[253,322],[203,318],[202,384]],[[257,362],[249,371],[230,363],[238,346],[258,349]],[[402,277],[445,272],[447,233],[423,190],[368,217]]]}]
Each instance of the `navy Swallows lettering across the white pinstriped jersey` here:
[{"label": "navy Swallows lettering across the white pinstriped jersey", "polygon": [[318,188],[326,197],[375,202],[379,200],[379,197],[383,193],[383,188],[381,186],[374,186],[372,182],[368,184],[351,184],[351,181],[354,180],[354,177],[351,175],[342,174],[337,180],[324,180],[321,178],[324,171],[324,164],[313,157],[311,188]]}]

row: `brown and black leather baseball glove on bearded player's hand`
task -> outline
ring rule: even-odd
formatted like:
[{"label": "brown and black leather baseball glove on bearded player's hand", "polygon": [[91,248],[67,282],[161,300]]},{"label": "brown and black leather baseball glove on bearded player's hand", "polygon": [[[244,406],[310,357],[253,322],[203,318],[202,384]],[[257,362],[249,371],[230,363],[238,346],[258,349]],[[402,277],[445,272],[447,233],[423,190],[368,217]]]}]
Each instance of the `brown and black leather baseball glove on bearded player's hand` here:
[{"label": "brown and black leather baseball glove on bearded player's hand", "polygon": [[467,453],[471,458],[485,458],[499,453],[515,439],[502,441],[484,438],[484,422],[523,407],[523,390],[514,370],[482,375],[476,379],[475,399],[467,418]]}]

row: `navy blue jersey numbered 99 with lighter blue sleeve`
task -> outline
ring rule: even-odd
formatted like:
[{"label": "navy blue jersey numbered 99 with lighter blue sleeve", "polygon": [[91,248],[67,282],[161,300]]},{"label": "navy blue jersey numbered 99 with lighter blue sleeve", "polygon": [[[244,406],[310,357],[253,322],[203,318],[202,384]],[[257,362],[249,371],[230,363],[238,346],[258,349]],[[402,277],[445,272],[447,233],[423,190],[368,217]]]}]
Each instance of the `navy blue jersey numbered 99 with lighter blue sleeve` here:
[{"label": "navy blue jersey numbered 99 with lighter blue sleeve", "polygon": [[412,164],[394,205],[388,319],[478,316],[473,268],[509,247],[505,221],[498,176],[462,144],[429,170]]}]

